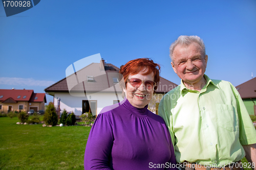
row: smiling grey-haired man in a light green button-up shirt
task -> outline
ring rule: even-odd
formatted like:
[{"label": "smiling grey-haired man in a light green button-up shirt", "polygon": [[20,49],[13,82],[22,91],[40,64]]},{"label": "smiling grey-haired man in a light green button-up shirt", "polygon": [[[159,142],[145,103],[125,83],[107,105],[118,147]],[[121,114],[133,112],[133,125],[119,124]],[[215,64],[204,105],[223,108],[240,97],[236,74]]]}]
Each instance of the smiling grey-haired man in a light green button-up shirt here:
[{"label": "smiling grey-haired man in a light green button-up shirt", "polygon": [[[177,162],[185,169],[256,169],[256,131],[249,114],[231,83],[204,74],[208,56],[200,37],[180,36],[170,46],[170,58],[181,84],[165,94],[159,115]],[[249,163],[242,165],[244,156]]]}]

